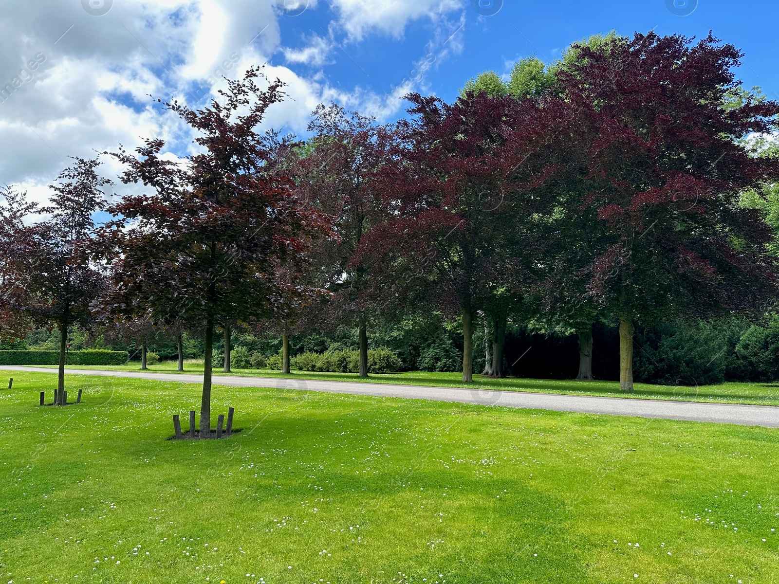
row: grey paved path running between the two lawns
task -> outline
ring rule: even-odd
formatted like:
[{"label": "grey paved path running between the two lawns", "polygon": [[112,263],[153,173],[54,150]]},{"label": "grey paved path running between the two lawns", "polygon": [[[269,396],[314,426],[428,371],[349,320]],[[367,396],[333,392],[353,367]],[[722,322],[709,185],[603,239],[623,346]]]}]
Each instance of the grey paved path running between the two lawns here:
[{"label": "grey paved path running between the two lawns", "polygon": [[[0,366],[6,371],[35,371],[55,374],[56,369],[26,366]],[[71,369],[69,375],[104,375],[164,382],[203,383],[202,375],[185,373],[145,373],[142,371],[95,371]],[[273,387],[301,391],[353,393],[359,396],[435,399],[442,402],[478,403],[555,410],[560,412],[608,413],[618,416],[720,422],[748,426],[779,427],[779,406],[749,406],[735,403],[677,402],[662,399],[633,399],[600,396],[566,396],[559,393],[532,393],[491,389],[391,385],[366,382],[329,382],[312,379],[238,377],[214,375],[213,383],[238,387]]]}]

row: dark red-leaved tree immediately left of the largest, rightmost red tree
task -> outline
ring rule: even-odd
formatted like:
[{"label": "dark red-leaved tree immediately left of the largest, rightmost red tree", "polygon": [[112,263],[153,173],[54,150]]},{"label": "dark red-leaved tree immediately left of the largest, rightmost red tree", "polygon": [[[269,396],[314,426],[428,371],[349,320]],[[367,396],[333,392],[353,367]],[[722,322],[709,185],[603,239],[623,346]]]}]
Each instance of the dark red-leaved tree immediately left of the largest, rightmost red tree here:
[{"label": "dark red-leaved tree immediately left of the largest, rightmost red tree", "polygon": [[[531,120],[533,100],[467,93],[455,104],[408,97],[414,119],[401,121],[400,164],[383,181],[392,213],[368,248],[390,259],[398,279],[431,289],[442,310],[463,325],[463,381],[473,381],[474,315],[495,283],[527,281],[540,241],[526,218],[544,202],[529,195],[544,180],[546,123]],[[553,171],[554,165],[550,167]],[[507,249],[523,249],[521,255]]]}]

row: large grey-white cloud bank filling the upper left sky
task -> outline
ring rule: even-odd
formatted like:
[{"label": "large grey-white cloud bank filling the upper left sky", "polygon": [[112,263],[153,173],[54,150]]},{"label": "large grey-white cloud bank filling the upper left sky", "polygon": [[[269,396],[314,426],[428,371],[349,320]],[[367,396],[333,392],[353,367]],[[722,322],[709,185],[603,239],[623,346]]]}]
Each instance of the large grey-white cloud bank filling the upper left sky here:
[{"label": "large grey-white cloud bank filling the upper left sky", "polygon": [[[273,5],[253,0],[117,0],[104,16],[78,0],[5,0],[2,11],[0,183],[39,200],[70,156],[132,150],[152,135],[187,153],[188,128],[150,95],[192,103],[199,85],[207,98],[220,76],[266,62],[280,40]],[[319,85],[294,81],[310,107]],[[278,118],[305,129],[309,112],[290,109]],[[121,169],[102,158],[115,178]]]}]

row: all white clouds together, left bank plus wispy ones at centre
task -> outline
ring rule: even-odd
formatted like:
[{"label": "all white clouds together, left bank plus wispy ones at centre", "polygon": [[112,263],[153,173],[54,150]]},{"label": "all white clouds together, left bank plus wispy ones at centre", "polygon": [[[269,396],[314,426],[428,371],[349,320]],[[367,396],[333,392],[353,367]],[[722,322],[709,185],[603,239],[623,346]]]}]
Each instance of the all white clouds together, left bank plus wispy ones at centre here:
[{"label": "all white clouds together, left bank plus wispy ones at centre", "polygon": [[[278,0],[114,0],[104,16],[90,15],[79,0],[0,2],[0,184],[23,185],[38,200],[70,156],[94,157],[119,144],[132,150],[150,136],[177,155],[191,152],[189,128],[150,96],[201,105],[224,88],[223,76],[234,79],[251,65],[269,62],[269,79],[287,83],[287,99],[270,107],[263,129],[298,133],[319,103],[373,109],[386,119],[404,93],[424,83],[399,81],[380,96],[333,86],[321,70],[294,72],[294,65],[325,65],[335,40],[312,33],[303,47],[281,47]],[[449,16],[461,21],[464,0],[332,2],[338,20],[331,34],[400,37],[411,21],[430,19],[436,58],[461,50],[461,32],[449,38],[458,26]],[[284,55],[289,66],[272,55]],[[121,169],[103,158],[104,174],[115,179]]]}]

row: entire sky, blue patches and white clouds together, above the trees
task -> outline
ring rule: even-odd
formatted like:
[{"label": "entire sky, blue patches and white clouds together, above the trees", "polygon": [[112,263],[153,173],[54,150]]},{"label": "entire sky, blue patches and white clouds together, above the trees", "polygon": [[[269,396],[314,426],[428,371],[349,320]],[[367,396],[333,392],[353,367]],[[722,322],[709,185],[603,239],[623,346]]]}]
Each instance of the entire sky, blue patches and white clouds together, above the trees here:
[{"label": "entire sky, blue patches and white clouds together, above the trees", "polygon": [[[609,30],[698,38],[713,30],[745,52],[745,85],[779,99],[776,2],[673,1],[669,9],[668,0],[0,0],[0,183],[44,201],[69,156],[132,150],[152,135],[182,157],[192,135],[150,95],[203,104],[224,87],[220,75],[262,63],[289,93],[266,127],[298,135],[319,103],[393,121],[408,91],[451,101],[479,72],[505,74],[529,55],[552,62],[571,42]],[[101,160],[116,178],[121,167]]]}]

